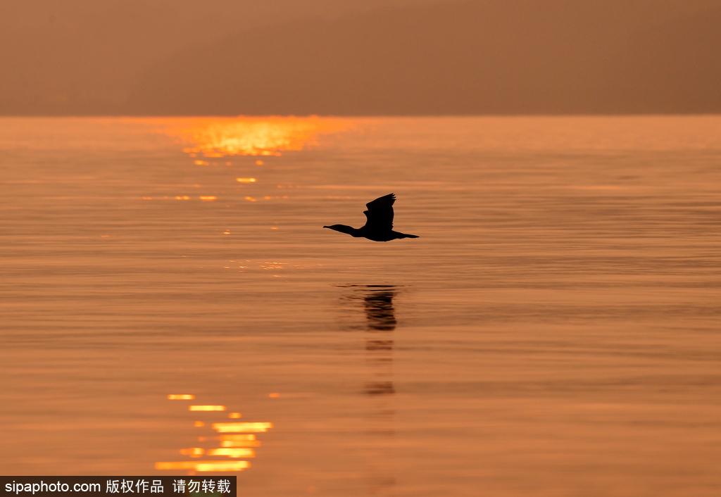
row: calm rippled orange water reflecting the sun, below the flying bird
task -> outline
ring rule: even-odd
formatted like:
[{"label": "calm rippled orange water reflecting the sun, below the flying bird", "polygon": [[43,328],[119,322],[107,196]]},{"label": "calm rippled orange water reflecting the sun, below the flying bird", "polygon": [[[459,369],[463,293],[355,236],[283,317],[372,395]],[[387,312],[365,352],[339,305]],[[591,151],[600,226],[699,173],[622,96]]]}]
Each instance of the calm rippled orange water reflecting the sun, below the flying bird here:
[{"label": "calm rippled orange water reflecting the sun, below the flying bird", "polygon": [[[4,118],[0,154],[3,474],[721,494],[720,117]],[[419,239],[322,229],[391,192]]]}]

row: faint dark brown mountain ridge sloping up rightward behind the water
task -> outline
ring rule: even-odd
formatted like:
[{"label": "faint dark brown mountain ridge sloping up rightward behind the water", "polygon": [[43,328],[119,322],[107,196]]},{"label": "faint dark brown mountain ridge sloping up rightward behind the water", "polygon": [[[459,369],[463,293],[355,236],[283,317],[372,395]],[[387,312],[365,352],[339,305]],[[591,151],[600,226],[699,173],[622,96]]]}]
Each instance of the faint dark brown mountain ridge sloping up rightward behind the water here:
[{"label": "faint dark brown mountain ridge sloping up rightward behind the water", "polygon": [[720,26],[716,0],[477,0],[290,22],[180,50],[107,113],[721,113]]}]

